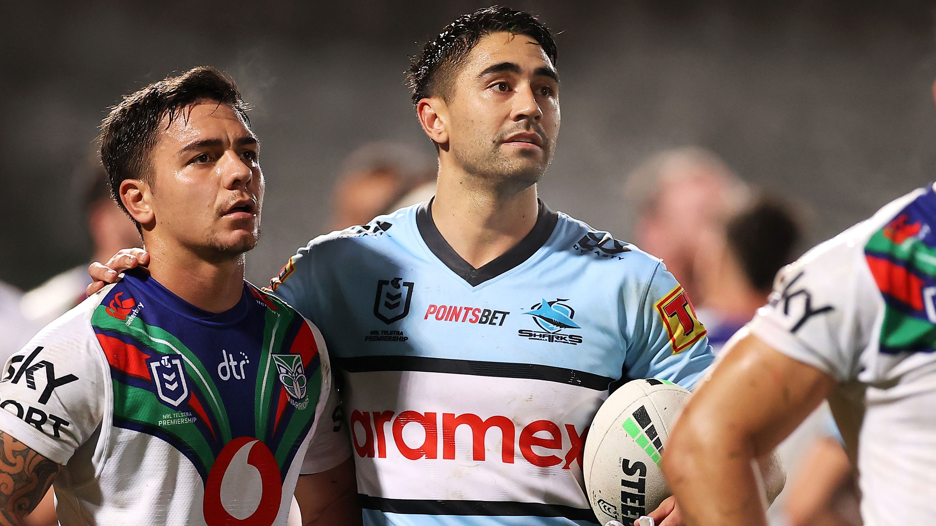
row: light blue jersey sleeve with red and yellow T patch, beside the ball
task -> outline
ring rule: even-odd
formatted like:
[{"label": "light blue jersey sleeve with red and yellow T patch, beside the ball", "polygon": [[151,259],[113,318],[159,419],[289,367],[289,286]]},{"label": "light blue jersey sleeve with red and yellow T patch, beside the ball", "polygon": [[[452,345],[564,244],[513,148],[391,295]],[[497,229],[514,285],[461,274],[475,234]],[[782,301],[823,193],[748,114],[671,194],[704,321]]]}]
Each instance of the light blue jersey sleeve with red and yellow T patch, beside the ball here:
[{"label": "light blue jersey sleeve with red and yellow T patch, beside the ball", "polygon": [[715,356],[689,296],[662,262],[636,308],[636,327],[624,358],[627,376],[661,378],[691,389]]}]

